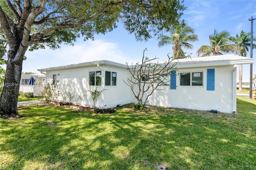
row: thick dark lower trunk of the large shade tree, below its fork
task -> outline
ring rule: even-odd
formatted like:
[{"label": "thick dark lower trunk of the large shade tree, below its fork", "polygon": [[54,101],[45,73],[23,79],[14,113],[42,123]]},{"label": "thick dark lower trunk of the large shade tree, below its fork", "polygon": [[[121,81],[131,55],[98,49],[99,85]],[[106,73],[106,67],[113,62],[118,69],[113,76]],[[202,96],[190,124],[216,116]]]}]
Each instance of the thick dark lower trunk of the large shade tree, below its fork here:
[{"label": "thick dark lower trunk of the large shade tree, below its fork", "polygon": [[[11,56],[13,55],[13,56]],[[0,115],[18,115],[17,101],[20,89],[23,57],[14,61],[15,54],[8,54],[4,88],[0,96]]]}]

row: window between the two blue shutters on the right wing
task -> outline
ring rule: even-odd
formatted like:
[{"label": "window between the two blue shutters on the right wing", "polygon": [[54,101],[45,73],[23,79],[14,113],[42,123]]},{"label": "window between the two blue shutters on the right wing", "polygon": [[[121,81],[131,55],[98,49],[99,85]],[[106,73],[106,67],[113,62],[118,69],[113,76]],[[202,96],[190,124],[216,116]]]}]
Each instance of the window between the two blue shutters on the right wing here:
[{"label": "window between the two blue shutters on the right wing", "polygon": [[180,85],[203,86],[203,72],[180,73]]}]

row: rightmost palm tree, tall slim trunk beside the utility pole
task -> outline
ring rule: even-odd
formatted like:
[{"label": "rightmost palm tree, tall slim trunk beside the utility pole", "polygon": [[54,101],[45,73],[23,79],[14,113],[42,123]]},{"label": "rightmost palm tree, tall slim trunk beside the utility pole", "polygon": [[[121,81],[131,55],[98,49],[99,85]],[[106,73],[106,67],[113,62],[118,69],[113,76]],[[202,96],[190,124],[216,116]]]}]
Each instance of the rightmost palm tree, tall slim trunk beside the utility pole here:
[{"label": "rightmost palm tree, tall slim trunk beside the utility pole", "polygon": [[[248,51],[248,48],[250,47],[251,39],[250,39],[251,33],[244,32],[244,30],[241,31],[240,36],[236,34],[236,37],[230,37],[230,40],[235,43],[236,48],[234,51],[239,56],[245,57]],[[253,48],[256,48],[256,45],[253,44]],[[242,75],[243,75],[243,67],[242,64],[239,65],[239,91],[242,91]]]}]

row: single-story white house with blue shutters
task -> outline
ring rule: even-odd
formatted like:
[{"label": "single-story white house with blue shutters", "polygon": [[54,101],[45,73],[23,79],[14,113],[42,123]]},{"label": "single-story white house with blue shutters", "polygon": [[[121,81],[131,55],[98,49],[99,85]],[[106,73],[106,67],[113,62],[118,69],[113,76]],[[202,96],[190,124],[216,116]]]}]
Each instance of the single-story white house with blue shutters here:
[{"label": "single-story white house with blue shutters", "polygon": [[[148,105],[236,113],[236,67],[254,61],[237,55],[219,55],[172,62],[177,63],[178,69],[170,77],[172,87],[165,86],[160,91],[154,91]],[[60,93],[83,97],[82,106],[92,107],[88,90],[94,90],[100,83],[98,90],[108,90],[98,100],[97,107],[109,108],[137,102],[130,87],[124,83],[131,77],[124,64],[101,60],[38,71],[46,73],[46,81],[57,84]],[[62,101],[63,97],[58,100]]]}]

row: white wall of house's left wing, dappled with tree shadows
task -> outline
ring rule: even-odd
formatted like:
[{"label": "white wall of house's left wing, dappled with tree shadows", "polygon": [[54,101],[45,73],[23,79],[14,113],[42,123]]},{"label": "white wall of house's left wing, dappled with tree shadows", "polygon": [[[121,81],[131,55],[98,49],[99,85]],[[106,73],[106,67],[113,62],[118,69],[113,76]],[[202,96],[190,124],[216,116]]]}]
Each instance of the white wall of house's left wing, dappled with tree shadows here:
[{"label": "white wall of house's left wing, dappled with tree shadows", "polygon": [[[78,67],[70,69],[60,69],[47,71],[46,78],[47,82],[52,83],[52,75],[60,74],[60,83],[58,84],[58,90],[60,93],[71,93],[72,95],[80,95],[83,99],[78,105],[93,107],[93,101],[90,97],[90,91],[96,89],[95,86],[89,85],[89,72],[90,71],[102,71],[102,85],[98,87],[98,91],[107,89],[103,92],[100,99],[96,104],[98,108],[110,108],[116,107],[118,104],[130,103],[130,89],[122,80],[128,76],[126,68],[113,67],[109,65],[101,65],[100,68],[97,66]],[[117,80],[116,86],[105,86],[105,71],[116,72]],[[58,98],[59,101],[63,101],[62,95]],[[68,99],[67,99],[68,100]]]}]

